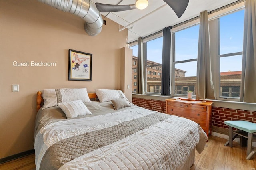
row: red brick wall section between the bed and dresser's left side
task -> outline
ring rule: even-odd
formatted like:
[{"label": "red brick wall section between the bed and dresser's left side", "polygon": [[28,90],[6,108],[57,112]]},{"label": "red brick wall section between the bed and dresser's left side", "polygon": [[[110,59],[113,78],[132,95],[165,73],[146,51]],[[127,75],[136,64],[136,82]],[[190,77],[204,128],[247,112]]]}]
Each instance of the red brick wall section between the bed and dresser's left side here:
[{"label": "red brick wall section between the bed and dresser's left side", "polygon": [[165,113],[165,101],[132,97],[132,103],[152,111]]}]

